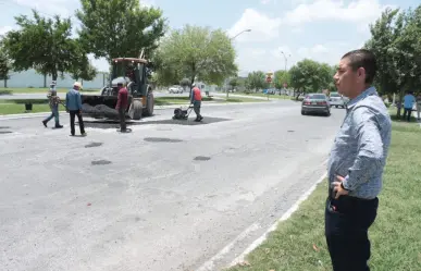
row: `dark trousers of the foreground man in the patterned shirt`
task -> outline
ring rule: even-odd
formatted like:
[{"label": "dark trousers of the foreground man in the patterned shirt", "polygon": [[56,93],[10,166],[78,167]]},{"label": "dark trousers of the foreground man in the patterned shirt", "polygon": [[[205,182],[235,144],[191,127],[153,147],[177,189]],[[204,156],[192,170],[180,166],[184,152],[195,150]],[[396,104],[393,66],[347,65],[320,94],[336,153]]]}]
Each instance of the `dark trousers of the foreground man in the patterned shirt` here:
[{"label": "dark trousers of the foreground man in the patterned shirt", "polygon": [[326,200],[325,237],[334,271],[369,271],[368,231],[377,214],[379,199],[340,196]]}]

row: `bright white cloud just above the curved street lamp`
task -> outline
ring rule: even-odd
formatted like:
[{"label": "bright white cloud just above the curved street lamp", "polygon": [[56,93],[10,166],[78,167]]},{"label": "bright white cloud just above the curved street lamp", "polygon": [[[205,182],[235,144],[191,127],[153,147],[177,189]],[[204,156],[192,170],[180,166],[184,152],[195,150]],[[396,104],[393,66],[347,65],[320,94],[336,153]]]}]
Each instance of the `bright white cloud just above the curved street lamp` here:
[{"label": "bright white cloud just above the curved street lamp", "polygon": [[280,35],[281,19],[271,19],[256,10],[246,9],[243,16],[231,27],[228,35],[234,37],[245,29],[251,29],[238,36],[236,41],[269,41]]}]

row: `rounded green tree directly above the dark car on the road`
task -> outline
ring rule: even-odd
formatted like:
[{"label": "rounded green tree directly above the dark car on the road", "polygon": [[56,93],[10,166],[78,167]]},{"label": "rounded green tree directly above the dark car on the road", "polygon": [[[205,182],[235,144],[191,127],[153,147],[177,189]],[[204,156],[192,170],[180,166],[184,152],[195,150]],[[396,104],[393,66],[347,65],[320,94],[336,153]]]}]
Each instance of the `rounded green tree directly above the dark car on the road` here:
[{"label": "rounded green tree directly above the dark car on the road", "polygon": [[289,71],[292,87],[296,90],[297,99],[300,94],[320,91],[329,87],[333,81],[332,67],[325,63],[305,59]]}]

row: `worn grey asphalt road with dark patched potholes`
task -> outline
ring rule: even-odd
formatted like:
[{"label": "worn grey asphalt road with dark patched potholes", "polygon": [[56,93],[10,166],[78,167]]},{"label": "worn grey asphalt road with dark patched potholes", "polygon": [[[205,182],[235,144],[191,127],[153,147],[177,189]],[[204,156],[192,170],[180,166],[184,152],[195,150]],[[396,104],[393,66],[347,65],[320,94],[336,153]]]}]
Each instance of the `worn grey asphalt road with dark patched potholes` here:
[{"label": "worn grey asphalt road with dark patched potholes", "polygon": [[172,112],[128,134],[86,119],[87,137],[69,136],[67,114],[63,130],[0,119],[0,269],[190,271],[234,242],[208,262],[221,270],[324,173],[345,114],[302,116],[293,101],[205,106],[200,124]]}]

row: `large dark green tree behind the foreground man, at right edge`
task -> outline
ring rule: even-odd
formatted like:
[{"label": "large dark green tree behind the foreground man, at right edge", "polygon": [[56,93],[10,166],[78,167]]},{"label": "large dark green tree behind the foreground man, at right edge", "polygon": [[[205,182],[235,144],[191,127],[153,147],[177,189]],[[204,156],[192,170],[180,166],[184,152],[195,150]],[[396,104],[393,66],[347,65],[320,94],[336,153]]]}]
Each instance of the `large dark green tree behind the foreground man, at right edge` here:
[{"label": "large dark green tree behind the foreground man, at right edge", "polygon": [[421,85],[421,5],[407,12],[387,9],[370,32],[364,47],[376,56],[375,85],[389,99],[398,91],[399,116],[405,91]]}]

